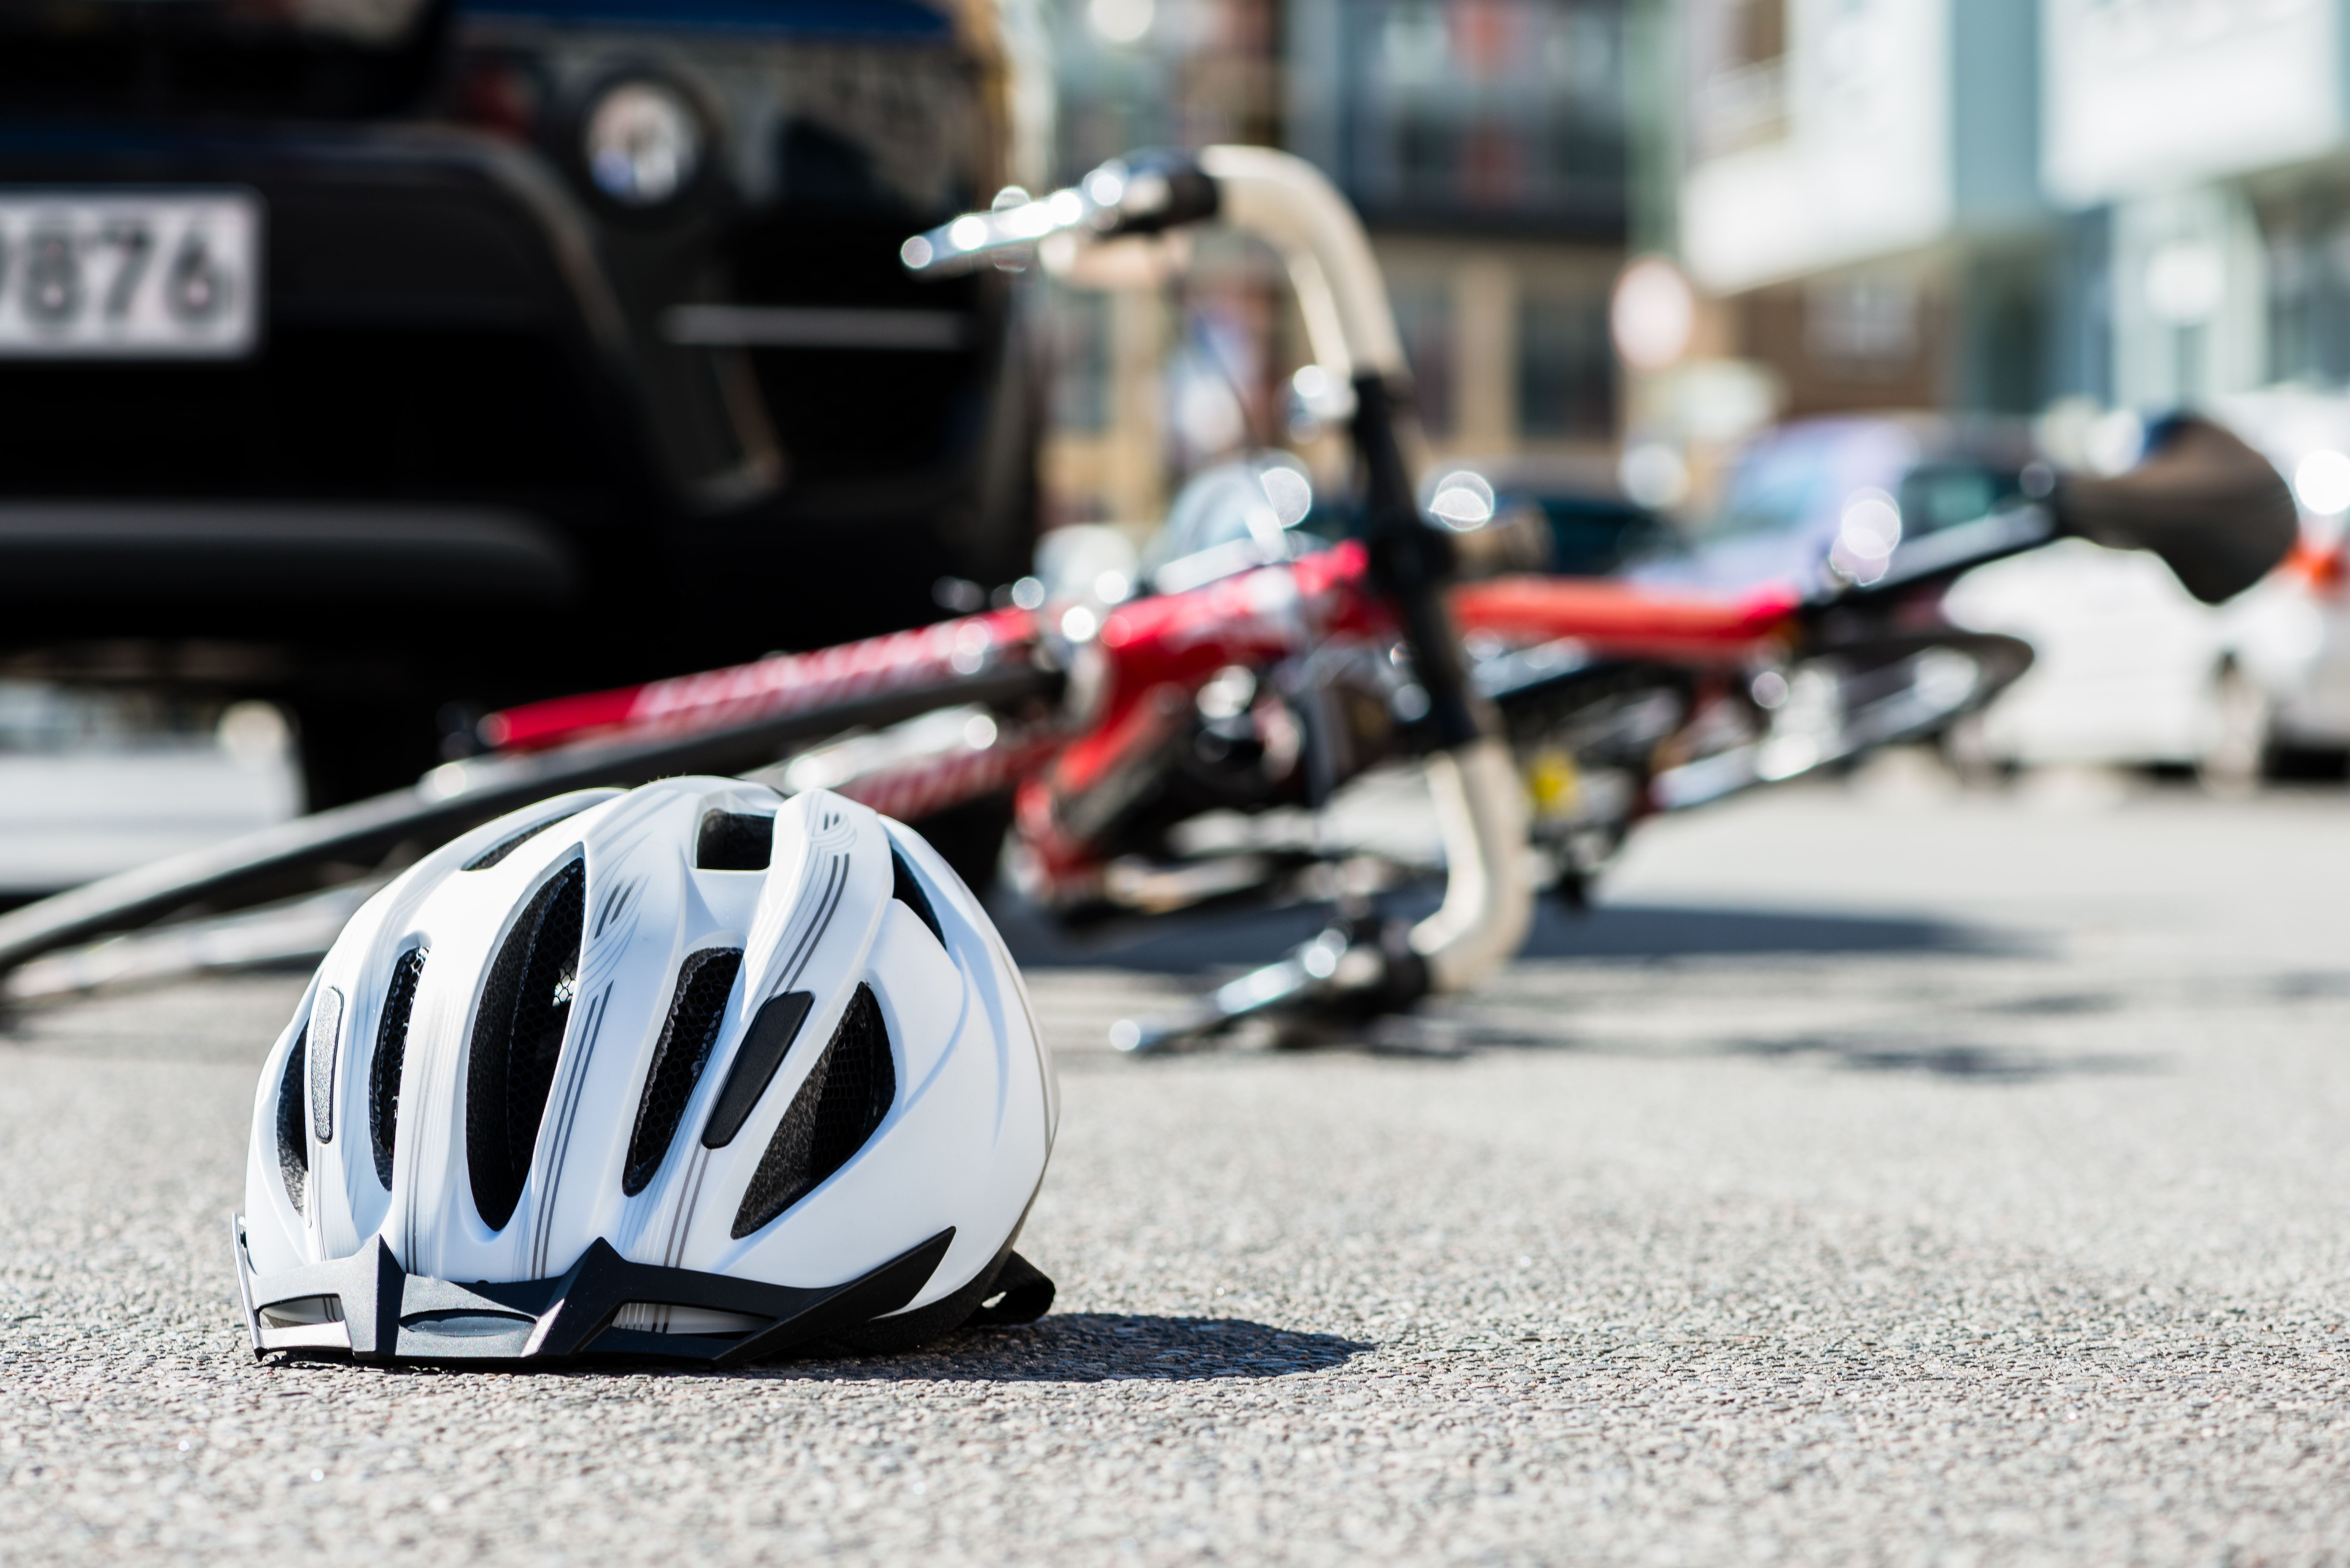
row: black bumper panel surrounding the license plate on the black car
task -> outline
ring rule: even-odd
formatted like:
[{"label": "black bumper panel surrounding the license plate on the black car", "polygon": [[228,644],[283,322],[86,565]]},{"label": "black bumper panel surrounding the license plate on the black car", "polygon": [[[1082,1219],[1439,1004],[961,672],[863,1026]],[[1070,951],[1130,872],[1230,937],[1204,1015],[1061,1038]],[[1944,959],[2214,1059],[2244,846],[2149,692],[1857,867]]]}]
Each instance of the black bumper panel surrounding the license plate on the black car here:
[{"label": "black bumper panel surrounding the license plate on the black car", "polygon": [[0,360],[0,494],[538,491],[562,512],[658,487],[625,310],[585,216],[517,146],[0,125],[0,186],[251,190],[268,294],[242,360]]}]

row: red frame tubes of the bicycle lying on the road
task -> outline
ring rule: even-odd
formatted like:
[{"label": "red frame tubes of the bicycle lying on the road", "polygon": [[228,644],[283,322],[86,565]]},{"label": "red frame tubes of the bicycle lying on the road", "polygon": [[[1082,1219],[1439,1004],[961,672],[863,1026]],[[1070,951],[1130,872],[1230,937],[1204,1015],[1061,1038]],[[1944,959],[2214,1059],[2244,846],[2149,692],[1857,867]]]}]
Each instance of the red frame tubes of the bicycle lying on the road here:
[{"label": "red frame tubes of the bicycle lying on the road", "polygon": [[[1398,625],[1370,583],[1361,543],[1311,550],[1107,609],[1088,637],[1058,614],[999,609],[813,654],[646,682],[489,715],[482,738],[505,752],[731,729],[837,708],[870,693],[952,689],[982,670],[1058,661],[1074,701],[985,729],[980,745],[891,759],[832,788],[877,811],[921,818],[1018,788],[1018,830],[1048,884],[1097,863],[1088,818],[1128,792],[1184,726],[1217,672],[1267,672],[1335,642],[1391,646]],[[1586,656],[1734,668],[1777,656],[1793,628],[1784,592],[1713,597],[1633,583],[1511,576],[1455,590],[1464,635],[1511,644],[1574,642]]]}]

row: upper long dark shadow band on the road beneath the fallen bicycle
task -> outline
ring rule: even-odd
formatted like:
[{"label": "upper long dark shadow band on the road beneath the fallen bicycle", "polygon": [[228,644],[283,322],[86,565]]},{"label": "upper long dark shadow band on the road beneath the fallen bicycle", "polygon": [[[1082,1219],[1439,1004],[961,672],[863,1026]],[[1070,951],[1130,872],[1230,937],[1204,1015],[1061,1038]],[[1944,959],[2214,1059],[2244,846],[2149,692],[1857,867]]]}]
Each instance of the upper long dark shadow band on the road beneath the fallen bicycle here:
[{"label": "upper long dark shadow band on the road beneath the fallen bicycle", "polygon": [[[1382,903],[1391,919],[1422,919],[1434,891],[1405,891]],[[1090,931],[1062,931],[1018,898],[989,903],[1013,957],[1029,969],[1133,969],[1163,976],[1210,976],[1271,964],[1330,924],[1330,905],[1278,910],[1198,910],[1126,919]],[[1812,910],[1718,910],[1701,905],[1598,905],[1572,912],[1553,898],[1535,907],[1520,959],[1694,959],[1802,957],[1856,952],[2021,954],[2012,933],[1896,914],[1821,914]]]}]

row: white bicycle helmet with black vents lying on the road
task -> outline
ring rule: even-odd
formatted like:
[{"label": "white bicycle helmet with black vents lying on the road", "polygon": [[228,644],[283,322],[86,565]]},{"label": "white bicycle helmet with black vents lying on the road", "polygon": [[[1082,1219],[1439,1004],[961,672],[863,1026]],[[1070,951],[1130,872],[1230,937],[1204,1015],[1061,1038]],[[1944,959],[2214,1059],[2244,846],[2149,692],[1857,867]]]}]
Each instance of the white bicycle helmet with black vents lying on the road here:
[{"label": "white bicycle helmet with black vents lying on the road", "polygon": [[270,1051],[254,1349],[905,1349],[1032,1321],[1060,1119],[1020,971],[919,835],[728,778],[562,795],[367,900]]}]

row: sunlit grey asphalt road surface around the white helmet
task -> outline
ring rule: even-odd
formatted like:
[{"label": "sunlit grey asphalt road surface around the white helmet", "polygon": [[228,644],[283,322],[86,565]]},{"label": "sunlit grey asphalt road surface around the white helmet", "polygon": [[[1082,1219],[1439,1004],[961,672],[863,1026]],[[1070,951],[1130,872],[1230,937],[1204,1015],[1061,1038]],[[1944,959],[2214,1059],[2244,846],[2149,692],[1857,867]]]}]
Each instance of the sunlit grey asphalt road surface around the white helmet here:
[{"label": "sunlit grey asphalt road surface around the white helmet", "polygon": [[1248,922],[1046,954],[1060,1307],[740,1375],[256,1363],[298,980],[28,1013],[0,1561],[2350,1561],[2350,799],[1864,778],[1607,896],[1316,1051],[1100,1048]]}]

